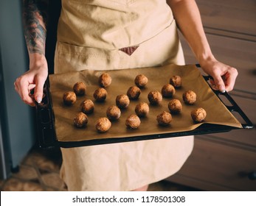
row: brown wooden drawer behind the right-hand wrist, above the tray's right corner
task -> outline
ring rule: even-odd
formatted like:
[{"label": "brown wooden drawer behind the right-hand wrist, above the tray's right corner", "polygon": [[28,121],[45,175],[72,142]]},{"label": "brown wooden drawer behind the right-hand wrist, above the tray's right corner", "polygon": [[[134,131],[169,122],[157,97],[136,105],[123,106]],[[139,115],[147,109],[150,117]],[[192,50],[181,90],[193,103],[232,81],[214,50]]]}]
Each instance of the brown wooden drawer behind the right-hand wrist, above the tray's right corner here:
[{"label": "brown wooden drawer behind the right-hand wrist, above the tray's right corner", "polygon": [[[235,88],[256,93],[256,42],[209,34],[207,39],[212,53],[219,61],[238,69]],[[181,38],[181,44],[184,48],[186,63],[197,63],[184,38]]]}]

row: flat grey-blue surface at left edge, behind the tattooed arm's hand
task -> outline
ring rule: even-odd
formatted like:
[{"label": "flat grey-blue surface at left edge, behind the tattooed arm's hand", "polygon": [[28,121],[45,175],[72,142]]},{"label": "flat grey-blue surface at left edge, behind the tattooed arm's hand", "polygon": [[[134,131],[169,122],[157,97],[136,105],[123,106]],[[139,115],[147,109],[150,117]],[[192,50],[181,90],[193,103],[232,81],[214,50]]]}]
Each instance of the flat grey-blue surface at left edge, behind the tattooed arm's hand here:
[{"label": "flat grey-blue surface at left edge, behind the tattooed arm's hand", "polygon": [[35,142],[33,112],[15,92],[13,82],[27,69],[27,49],[21,25],[21,1],[0,1],[1,121],[4,121],[4,154],[16,167]]}]

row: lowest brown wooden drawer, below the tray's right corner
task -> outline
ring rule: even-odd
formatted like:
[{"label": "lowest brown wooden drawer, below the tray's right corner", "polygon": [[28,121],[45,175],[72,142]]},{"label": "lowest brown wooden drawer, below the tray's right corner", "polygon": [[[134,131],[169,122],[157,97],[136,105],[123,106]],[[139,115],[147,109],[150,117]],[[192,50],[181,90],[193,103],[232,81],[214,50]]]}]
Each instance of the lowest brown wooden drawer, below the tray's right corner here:
[{"label": "lowest brown wooden drawer, below the tray's right corner", "polygon": [[181,170],[167,180],[206,191],[256,191],[256,150],[246,151],[196,138],[193,153]]}]

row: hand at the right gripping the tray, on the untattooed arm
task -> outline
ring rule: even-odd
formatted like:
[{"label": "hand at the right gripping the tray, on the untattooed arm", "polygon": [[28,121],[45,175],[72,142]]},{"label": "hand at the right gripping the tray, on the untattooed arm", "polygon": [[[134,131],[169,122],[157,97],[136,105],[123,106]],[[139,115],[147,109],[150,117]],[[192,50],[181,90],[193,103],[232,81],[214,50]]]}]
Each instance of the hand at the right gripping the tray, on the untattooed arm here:
[{"label": "hand at the right gripping the tray, on the untattooed arm", "polygon": [[230,91],[234,88],[235,79],[238,77],[238,71],[229,65],[215,60],[204,60],[200,63],[201,68],[213,79],[210,80],[212,88],[221,92]]}]

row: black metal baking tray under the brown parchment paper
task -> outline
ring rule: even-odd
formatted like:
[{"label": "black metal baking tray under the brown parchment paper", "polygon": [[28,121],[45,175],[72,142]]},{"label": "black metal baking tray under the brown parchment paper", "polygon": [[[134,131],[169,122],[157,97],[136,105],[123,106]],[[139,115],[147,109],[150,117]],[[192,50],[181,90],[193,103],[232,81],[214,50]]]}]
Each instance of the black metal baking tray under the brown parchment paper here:
[{"label": "black metal baking tray under the brown parchment paper", "polygon": [[[197,65],[199,66],[199,65]],[[208,81],[210,76],[203,76],[206,81]],[[120,142],[128,142],[128,141],[143,141],[143,140],[151,140],[156,138],[172,138],[179,136],[187,136],[187,135],[203,135],[210,133],[218,133],[218,132],[229,132],[232,129],[251,129],[253,128],[252,122],[243,113],[243,110],[238,106],[238,104],[232,99],[229,93],[224,92],[221,93],[218,90],[212,90],[216,96],[223,102],[226,108],[231,112],[235,113],[239,116],[241,121],[242,128],[238,127],[230,127],[220,124],[201,124],[199,127],[193,130],[185,131],[185,132],[170,132],[159,135],[145,135],[142,136],[134,136],[134,137],[125,137],[125,138],[103,138],[97,140],[86,140],[86,141],[58,141],[55,133],[55,116],[52,110],[52,99],[49,91],[49,79],[46,80],[44,85],[44,98],[40,104],[36,104],[36,121],[37,121],[37,130],[38,130],[38,143],[42,148],[50,148],[50,147],[77,147],[77,146],[92,146],[98,144],[105,143],[120,143]],[[224,101],[225,99],[225,101]]]}]

